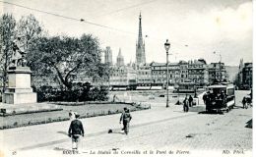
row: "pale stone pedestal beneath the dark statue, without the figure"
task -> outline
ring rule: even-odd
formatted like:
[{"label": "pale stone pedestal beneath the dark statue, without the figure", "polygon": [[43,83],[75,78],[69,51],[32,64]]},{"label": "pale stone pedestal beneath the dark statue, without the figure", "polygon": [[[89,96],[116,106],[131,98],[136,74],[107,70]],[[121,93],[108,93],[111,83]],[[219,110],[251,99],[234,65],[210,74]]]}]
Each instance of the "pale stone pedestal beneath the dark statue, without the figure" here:
[{"label": "pale stone pedestal beneath the dark statue, without the figure", "polygon": [[29,67],[11,67],[8,71],[8,88],[3,102],[7,104],[35,103],[36,93],[32,92],[32,71]]}]

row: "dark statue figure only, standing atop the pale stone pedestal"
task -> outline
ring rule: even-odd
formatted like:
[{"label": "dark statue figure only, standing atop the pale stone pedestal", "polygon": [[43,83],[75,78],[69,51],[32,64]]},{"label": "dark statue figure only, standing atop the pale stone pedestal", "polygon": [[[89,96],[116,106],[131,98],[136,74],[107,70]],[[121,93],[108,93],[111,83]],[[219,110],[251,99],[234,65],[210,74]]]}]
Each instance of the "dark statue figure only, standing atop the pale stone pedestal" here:
[{"label": "dark statue figure only, standing atop the pale stone pedestal", "polygon": [[26,67],[27,60],[25,59],[25,48],[22,43],[22,38],[20,36],[17,37],[16,40],[13,41],[13,54],[12,54],[12,67]]}]

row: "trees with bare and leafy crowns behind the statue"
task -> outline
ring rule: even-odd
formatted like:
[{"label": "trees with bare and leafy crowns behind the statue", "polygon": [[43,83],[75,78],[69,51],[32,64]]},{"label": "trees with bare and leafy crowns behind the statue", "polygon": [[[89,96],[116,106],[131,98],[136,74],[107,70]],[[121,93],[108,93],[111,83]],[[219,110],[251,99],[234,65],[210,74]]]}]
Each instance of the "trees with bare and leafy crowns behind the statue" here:
[{"label": "trees with bare and leafy crowns behind the statue", "polygon": [[17,22],[9,14],[2,15],[0,31],[3,90],[11,64],[12,41],[18,36],[22,38],[34,78],[57,78],[62,90],[72,90],[73,81],[80,73],[97,82],[108,78],[109,66],[100,62],[99,41],[92,34],[83,34],[81,37],[49,36],[32,15],[22,17]]}]

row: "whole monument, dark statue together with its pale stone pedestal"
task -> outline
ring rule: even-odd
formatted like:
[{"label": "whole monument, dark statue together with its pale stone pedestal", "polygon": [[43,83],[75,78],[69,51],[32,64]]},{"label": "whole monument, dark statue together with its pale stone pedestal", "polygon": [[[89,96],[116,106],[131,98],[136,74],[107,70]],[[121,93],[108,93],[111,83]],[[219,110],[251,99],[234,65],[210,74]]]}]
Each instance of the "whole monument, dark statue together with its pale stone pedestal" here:
[{"label": "whole monument, dark statue together with its pale stone pedestal", "polygon": [[3,103],[36,103],[36,93],[32,91],[32,71],[27,67],[25,44],[20,36],[12,42],[12,58],[8,74],[8,87],[3,95]]}]

